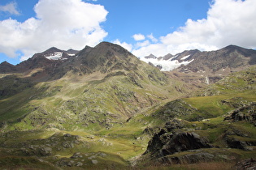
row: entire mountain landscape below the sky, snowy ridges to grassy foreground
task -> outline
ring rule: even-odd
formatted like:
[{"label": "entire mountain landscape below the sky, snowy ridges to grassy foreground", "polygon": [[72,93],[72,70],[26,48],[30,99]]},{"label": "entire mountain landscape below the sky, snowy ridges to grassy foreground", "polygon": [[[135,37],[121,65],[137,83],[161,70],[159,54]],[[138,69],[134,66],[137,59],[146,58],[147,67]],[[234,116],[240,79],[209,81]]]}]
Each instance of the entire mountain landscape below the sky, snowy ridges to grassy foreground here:
[{"label": "entire mountain landscape below the sky, snowy ridges to grassy foreground", "polygon": [[255,64],[254,49],[235,45],[139,59],[109,42],[80,51],[53,47],[16,66],[2,62],[0,164],[5,169],[255,164]]}]

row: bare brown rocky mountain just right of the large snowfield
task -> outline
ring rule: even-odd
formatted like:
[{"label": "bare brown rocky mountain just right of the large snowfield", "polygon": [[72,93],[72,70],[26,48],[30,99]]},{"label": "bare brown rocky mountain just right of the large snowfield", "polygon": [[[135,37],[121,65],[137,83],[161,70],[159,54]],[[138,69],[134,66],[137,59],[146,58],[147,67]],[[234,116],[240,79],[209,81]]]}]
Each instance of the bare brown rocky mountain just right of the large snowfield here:
[{"label": "bare brown rocky mountain just right of the large snowfield", "polygon": [[198,53],[197,57],[193,57],[193,62],[179,70],[227,75],[233,71],[243,70],[246,66],[255,65],[255,58],[255,50],[229,45],[217,51]]}]

